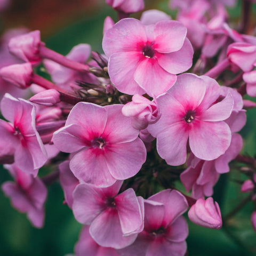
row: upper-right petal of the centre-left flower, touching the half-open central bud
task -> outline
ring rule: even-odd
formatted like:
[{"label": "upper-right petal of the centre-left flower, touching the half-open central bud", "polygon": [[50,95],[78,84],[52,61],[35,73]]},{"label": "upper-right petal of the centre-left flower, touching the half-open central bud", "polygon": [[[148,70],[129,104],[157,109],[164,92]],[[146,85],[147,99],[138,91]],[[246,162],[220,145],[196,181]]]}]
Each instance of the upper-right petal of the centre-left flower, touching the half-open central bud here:
[{"label": "upper-right petal of the centre-left flower, touching the half-open central bud", "polygon": [[122,114],[123,105],[105,106],[108,121],[104,130],[106,140],[111,144],[130,142],[138,138],[139,131],[131,125],[131,118]]}]

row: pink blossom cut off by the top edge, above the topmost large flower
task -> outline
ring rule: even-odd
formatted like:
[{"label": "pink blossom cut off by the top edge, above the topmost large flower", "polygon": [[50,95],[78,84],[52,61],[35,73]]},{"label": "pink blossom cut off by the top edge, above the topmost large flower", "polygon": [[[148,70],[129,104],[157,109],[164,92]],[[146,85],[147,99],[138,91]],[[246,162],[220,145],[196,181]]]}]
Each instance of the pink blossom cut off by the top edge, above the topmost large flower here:
[{"label": "pink blossom cut off by the top edge, above the topmost large flower", "polygon": [[106,3],[124,13],[139,12],[144,9],[143,0],[106,0]]}]

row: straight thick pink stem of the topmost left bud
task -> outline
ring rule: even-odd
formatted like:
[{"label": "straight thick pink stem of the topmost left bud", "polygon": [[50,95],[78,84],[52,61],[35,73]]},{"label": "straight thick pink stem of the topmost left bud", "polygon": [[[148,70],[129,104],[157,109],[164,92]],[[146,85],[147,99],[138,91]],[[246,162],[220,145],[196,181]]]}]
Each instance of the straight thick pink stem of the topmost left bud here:
[{"label": "straight thick pink stem of the topmost left bud", "polygon": [[88,72],[88,70],[90,68],[86,64],[82,64],[82,63],[76,62],[74,60],[70,60],[70,59],[66,58],[65,56],[59,54],[58,52],[54,52],[51,49],[48,49],[44,46],[42,46],[40,49],[40,55],[43,58],[53,60],[64,67],[71,68],[71,69],[74,69],[74,70],[77,70],[80,72]]}]

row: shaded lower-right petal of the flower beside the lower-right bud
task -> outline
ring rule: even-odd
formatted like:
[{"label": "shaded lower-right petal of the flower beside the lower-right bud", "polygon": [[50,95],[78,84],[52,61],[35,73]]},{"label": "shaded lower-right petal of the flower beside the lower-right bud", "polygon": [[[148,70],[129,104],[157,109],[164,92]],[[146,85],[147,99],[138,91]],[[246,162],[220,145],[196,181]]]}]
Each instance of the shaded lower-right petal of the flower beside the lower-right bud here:
[{"label": "shaded lower-right petal of the flower beside the lower-right bud", "polygon": [[[169,204],[171,204],[169,202]],[[165,233],[166,240],[174,243],[185,241],[188,236],[188,223],[183,216],[176,219]]]}]

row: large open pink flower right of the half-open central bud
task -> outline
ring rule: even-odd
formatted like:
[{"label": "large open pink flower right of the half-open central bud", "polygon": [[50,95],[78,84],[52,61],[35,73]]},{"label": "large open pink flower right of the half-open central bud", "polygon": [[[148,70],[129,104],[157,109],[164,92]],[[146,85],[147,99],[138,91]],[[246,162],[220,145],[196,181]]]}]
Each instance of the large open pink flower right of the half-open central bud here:
[{"label": "large open pink flower right of the half-open central bud", "polygon": [[220,86],[214,79],[182,74],[157,98],[161,117],[147,129],[157,138],[158,154],[167,164],[186,162],[188,140],[192,153],[200,159],[213,160],[225,153],[231,131],[223,120],[230,116],[234,101],[228,94],[215,103],[219,95]]}]

